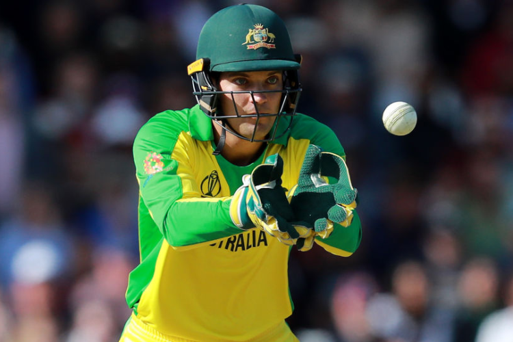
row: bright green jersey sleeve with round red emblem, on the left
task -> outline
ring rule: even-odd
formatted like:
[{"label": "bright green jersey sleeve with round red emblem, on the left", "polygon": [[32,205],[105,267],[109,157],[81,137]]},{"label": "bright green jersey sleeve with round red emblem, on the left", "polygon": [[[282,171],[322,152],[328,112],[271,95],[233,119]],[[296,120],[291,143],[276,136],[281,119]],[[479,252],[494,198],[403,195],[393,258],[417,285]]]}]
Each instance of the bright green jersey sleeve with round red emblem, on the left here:
[{"label": "bright green jersey sleeve with round red emblem, on the left", "polygon": [[231,197],[201,197],[187,153],[177,146],[187,122],[171,114],[176,113],[157,114],[135,137],[133,158],[142,205],[174,248],[240,233],[229,216]]}]

